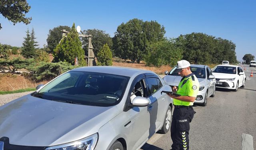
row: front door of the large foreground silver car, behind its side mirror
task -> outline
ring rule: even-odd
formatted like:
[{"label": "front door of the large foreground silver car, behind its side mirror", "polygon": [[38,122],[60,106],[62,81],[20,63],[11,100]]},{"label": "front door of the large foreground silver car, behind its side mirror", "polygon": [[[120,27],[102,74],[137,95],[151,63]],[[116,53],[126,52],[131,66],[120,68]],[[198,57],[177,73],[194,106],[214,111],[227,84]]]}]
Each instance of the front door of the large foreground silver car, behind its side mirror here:
[{"label": "front door of the large foreground silver car, behind its side mirror", "polygon": [[131,150],[136,150],[141,147],[144,142],[148,140],[149,129],[150,129],[150,111],[149,106],[146,107],[129,107],[128,104],[131,104],[132,93],[134,93],[134,88],[138,83],[142,86],[142,97],[146,97],[146,84],[145,84],[145,75],[140,74],[137,76],[131,86],[124,106],[124,113],[128,113],[130,116],[130,122],[128,126],[132,126],[132,131],[127,137],[127,145],[130,145]]}]

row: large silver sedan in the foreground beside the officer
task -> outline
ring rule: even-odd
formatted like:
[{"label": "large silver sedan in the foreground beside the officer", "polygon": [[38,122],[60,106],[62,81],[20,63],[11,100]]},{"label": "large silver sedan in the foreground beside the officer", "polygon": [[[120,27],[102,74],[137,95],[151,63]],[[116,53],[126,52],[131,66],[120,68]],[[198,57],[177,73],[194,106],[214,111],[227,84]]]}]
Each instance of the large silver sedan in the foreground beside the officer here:
[{"label": "large silver sedan in the foreground beside the officer", "polygon": [[167,133],[171,88],[151,71],[70,70],[0,106],[0,150],[138,150]]}]

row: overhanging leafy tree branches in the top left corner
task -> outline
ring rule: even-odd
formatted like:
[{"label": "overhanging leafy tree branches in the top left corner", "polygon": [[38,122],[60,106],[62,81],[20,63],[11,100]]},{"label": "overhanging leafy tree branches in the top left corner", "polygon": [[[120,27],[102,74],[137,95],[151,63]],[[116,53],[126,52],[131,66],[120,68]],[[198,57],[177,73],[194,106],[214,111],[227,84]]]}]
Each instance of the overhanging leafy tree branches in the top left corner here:
[{"label": "overhanging leafy tree branches in the top left corner", "polygon": [[[17,22],[29,24],[32,18],[25,18],[30,6],[26,0],[0,0],[0,13],[15,25]],[[0,24],[0,29],[1,29]]]}]

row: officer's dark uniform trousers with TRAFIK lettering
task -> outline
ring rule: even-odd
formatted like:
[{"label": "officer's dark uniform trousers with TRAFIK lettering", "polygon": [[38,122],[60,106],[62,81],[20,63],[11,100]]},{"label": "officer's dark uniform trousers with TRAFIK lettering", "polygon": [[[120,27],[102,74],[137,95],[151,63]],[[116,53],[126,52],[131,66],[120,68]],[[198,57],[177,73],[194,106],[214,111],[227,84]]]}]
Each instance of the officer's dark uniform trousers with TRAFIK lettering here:
[{"label": "officer's dark uniform trousers with TRAFIK lettering", "polygon": [[189,124],[195,113],[192,106],[174,105],[171,124],[172,150],[189,150]]}]

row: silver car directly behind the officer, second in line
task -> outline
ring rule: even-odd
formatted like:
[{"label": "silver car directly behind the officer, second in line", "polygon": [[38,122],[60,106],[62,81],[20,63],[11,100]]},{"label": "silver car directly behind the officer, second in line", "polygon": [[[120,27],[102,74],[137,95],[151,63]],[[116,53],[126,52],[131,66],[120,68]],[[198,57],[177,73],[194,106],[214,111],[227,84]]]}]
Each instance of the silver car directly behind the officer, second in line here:
[{"label": "silver car directly behind the officer, second in line", "polygon": [[[191,71],[198,78],[200,87],[199,92],[194,103],[200,104],[201,106],[206,106],[208,97],[215,96],[215,77],[212,75],[212,70],[206,65],[196,65],[191,64]],[[170,86],[178,86],[182,77],[178,74],[176,66],[172,68],[170,72],[164,72],[164,81],[166,81]]]}]

